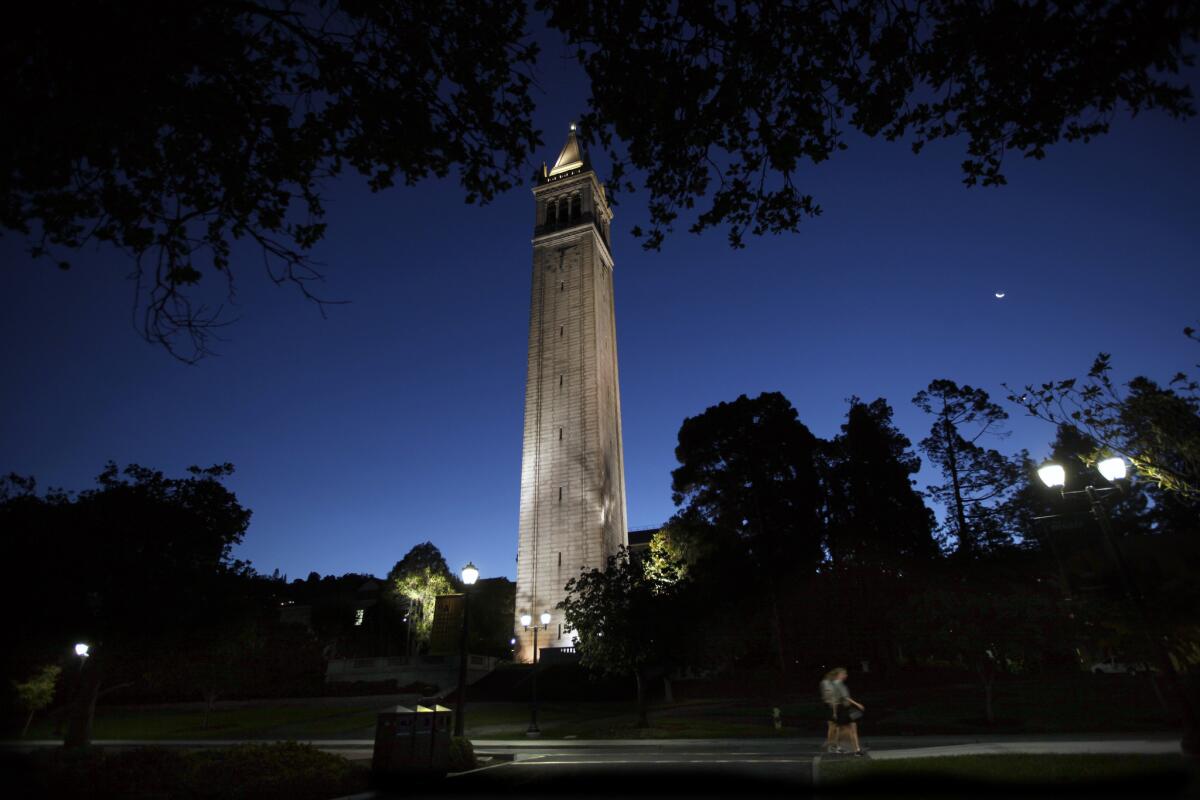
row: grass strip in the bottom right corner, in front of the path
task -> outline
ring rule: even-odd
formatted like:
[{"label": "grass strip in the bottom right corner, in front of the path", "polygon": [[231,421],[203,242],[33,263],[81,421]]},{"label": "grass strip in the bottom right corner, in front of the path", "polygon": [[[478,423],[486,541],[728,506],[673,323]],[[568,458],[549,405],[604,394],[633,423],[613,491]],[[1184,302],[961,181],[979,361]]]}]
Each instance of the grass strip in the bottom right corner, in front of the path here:
[{"label": "grass strip in the bottom right corner, in front of the path", "polygon": [[[823,760],[821,786],[966,787],[1097,786],[1124,792],[1136,788],[1176,793],[1195,786],[1194,766],[1180,756],[946,756],[881,762]],[[1105,792],[1106,794],[1108,792]],[[1130,795],[1133,796],[1133,795]]]}]

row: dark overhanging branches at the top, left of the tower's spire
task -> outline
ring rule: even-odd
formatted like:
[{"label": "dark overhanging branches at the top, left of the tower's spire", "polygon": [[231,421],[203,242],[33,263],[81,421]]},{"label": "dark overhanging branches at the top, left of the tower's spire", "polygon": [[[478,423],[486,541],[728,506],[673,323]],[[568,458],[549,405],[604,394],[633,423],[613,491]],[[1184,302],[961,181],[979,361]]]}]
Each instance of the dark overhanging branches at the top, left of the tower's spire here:
[{"label": "dark overhanging branches at the top, left of the tower's spire", "polygon": [[[208,353],[245,239],[313,289],[323,182],[456,172],[468,201],[523,178],[534,131],[523,0],[118,2],[8,10],[0,47],[0,227],[66,269],[115,245],[136,323]],[[222,285],[214,293],[202,281]]]}]

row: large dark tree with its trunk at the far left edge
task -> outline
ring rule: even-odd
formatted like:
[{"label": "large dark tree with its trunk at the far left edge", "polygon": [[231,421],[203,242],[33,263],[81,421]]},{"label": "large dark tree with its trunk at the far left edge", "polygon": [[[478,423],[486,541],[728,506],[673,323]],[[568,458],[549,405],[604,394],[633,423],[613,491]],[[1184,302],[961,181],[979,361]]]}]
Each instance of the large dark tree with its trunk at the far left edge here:
[{"label": "large dark tree with its trunk at the far left edge", "polygon": [[[250,511],[221,480],[230,464],[191,468],[172,479],[109,463],[98,488],[77,495],[36,493],[10,476],[0,487],[0,536],[7,554],[0,584],[7,630],[25,652],[67,652],[88,642],[66,744],[86,745],[109,664],[179,630],[208,624]],[[29,593],[37,602],[30,603]],[[10,654],[13,655],[13,654]]]}]

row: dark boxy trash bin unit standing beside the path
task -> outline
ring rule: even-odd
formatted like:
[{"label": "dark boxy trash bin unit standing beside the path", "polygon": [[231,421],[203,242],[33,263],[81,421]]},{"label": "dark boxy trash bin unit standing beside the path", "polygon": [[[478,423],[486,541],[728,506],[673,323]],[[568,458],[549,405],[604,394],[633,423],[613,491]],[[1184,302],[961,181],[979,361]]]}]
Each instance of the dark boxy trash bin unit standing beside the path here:
[{"label": "dark boxy trash bin unit standing beside the path", "polygon": [[440,776],[450,769],[450,709],[397,705],[376,720],[371,771],[376,782],[398,777]]}]

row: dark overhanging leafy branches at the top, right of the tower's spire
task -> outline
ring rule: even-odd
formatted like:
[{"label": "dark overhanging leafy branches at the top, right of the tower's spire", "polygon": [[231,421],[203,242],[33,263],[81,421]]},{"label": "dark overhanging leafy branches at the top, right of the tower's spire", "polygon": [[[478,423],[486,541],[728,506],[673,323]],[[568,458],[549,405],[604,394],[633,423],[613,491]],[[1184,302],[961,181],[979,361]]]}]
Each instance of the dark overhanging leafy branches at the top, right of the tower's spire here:
[{"label": "dark overhanging leafy branches at the top, right of the tower's spire", "polygon": [[[644,176],[658,248],[692,231],[794,230],[821,207],[805,162],[846,131],[911,143],[966,139],[964,181],[1004,182],[1004,155],[1043,158],[1105,133],[1122,112],[1194,114],[1200,6],[1139,2],[719,2],[539,0],[592,82],[582,130]],[[641,233],[641,231],[635,231]]]}]

